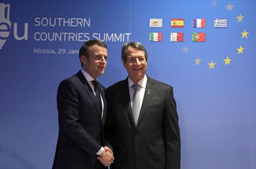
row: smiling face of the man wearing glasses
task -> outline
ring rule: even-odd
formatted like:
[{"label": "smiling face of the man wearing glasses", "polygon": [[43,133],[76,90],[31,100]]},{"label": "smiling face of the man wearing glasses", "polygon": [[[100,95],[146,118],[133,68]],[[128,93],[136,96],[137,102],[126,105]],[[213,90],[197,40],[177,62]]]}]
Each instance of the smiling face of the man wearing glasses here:
[{"label": "smiling face of the man wearing glasses", "polygon": [[135,63],[130,63],[128,59],[141,57],[145,58],[144,51],[129,46],[126,53],[126,61],[122,59],[123,65],[134,83],[138,83],[145,76],[147,61],[140,62],[136,59]]}]

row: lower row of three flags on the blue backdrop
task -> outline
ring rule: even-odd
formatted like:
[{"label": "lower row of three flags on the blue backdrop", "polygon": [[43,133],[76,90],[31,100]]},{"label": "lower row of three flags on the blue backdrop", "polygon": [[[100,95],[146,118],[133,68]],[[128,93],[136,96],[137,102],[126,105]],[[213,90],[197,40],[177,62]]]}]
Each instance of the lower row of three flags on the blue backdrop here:
[{"label": "lower row of three flags on the blue backdrop", "polygon": [[[149,41],[162,41],[163,34],[161,32],[150,32],[149,33]],[[184,33],[172,32],[170,34],[170,41],[178,41],[183,42]],[[192,41],[193,42],[204,42],[205,41],[205,33],[192,33]]]}]

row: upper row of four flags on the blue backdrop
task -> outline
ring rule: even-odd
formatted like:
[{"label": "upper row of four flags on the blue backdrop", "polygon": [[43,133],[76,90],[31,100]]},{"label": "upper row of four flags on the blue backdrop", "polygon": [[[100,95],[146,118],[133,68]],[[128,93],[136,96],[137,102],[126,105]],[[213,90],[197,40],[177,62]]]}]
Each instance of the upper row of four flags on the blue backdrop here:
[{"label": "upper row of four flags on the blue backdrop", "polygon": [[[163,19],[150,19],[150,28],[162,28],[163,27]],[[184,28],[184,19],[171,19],[171,27],[172,28]],[[205,28],[206,27],[206,19],[193,19],[193,28]],[[214,28],[228,28],[228,20],[227,19],[215,19],[214,20]]]}]

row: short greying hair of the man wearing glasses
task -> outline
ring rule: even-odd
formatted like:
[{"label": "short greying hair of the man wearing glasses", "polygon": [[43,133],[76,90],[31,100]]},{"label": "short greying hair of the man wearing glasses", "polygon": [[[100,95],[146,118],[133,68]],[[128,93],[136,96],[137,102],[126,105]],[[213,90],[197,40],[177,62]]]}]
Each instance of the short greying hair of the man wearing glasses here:
[{"label": "short greying hair of the man wearing glasses", "polygon": [[124,45],[122,47],[122,59],[124,59],[125,63],[126,63],[126,57],[127,57],[127,49],[129,46],[133,47],[135,49],[144,51],[146,61],[148,60],[148,52],[146,51],[145,47],[140,42],[134,41],[134,42],[130,42],[130,43],[124,43]]}]

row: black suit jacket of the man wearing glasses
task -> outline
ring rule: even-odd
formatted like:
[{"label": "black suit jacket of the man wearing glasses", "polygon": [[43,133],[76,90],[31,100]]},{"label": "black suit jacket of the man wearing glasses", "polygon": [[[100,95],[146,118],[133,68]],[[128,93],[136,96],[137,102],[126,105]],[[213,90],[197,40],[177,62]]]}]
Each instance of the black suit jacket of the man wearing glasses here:
[{"label": "black suit jacket of the man wearing glasses", "polygon": [[111,169],[180,169],[180,130],[172,86],[147,76],[135,126],[128,78],[106,90],[106,137],[114,150]]}]

